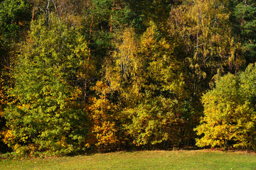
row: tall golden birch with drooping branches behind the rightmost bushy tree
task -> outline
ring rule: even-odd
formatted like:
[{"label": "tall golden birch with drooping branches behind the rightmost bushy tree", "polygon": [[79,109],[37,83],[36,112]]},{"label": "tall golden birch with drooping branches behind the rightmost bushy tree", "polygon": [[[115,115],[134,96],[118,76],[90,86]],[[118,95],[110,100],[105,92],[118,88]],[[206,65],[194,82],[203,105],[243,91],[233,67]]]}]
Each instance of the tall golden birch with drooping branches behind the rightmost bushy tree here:
[{"label": "tall golden birch with drooping branches behind the rightmost bushy tree", "polygon": [[244,60],[231,35],[228,1],[196,0],[173,8],[169,33],[181,47],[193,98],[200,98],[214,74],[237,72]]}]

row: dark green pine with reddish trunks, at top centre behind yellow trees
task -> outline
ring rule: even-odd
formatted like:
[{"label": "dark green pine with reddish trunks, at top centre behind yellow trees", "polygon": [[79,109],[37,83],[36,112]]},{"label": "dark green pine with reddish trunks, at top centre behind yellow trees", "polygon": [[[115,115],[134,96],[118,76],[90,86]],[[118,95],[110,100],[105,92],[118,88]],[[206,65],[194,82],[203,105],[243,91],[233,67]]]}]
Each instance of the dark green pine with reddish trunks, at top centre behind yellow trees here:
[{"label": "dark green pine with reddish trunks, at top centre behind yellow trees", "polygon": [[[84,32],[90,49],[90,59],[95,60],[101,69],[105,57],[114,48],[113,33],[129,26],[132,20],[129,7],[123,1],[92,0],[88,3],[83,18]],[[99,76],[100,77],[100,76]]]}]

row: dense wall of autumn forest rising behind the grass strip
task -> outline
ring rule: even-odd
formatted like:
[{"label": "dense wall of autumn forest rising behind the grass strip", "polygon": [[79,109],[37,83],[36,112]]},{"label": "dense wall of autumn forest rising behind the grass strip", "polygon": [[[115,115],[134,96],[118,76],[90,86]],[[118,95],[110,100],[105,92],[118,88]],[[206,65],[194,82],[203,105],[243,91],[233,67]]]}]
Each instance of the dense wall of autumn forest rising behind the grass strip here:
[{"label": "dense wall of autumn forest rising behind the grass strip", "polygon": [[0,0],[0,152],[256,149],[254,0]]}]

